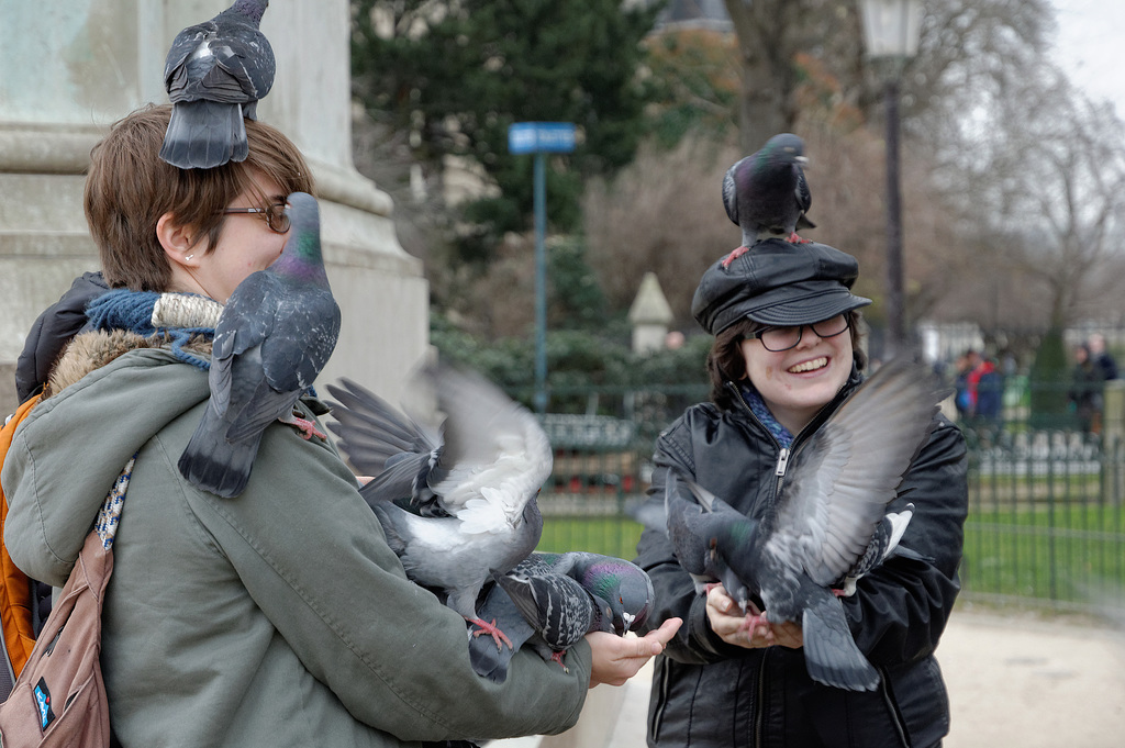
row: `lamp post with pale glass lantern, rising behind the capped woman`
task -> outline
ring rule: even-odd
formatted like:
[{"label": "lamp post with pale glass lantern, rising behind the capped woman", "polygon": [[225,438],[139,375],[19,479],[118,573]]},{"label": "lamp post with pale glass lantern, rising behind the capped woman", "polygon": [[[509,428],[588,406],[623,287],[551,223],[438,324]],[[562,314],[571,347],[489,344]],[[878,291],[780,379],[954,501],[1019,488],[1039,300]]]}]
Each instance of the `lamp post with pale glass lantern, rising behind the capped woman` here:
[{"label": "lamp post with pale glass lantern, rising behind the capped woman", "polygon": [[918,54],[921,0],[860,0],[867,56],[885,61],[886,111],[886,344],[891,358],[906,345],[902,272],[902,180],[899,173],[899,79]]}]

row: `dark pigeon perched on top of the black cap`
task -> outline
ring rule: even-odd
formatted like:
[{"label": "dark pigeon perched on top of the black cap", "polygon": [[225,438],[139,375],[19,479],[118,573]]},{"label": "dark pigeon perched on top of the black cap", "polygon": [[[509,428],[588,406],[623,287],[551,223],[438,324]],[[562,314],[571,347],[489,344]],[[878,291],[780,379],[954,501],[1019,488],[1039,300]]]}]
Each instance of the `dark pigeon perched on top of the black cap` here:
[{"label": "dark pigeon perched on top of the black cap", "polygon": [[796,234],[798,228],[816,227],[804,215],[812,205],[802,169],[808,161],[804,142],[782,133],[727,170],[722,205],[742,229],[742,246],[775,237],[794,244],[808,241]]}]

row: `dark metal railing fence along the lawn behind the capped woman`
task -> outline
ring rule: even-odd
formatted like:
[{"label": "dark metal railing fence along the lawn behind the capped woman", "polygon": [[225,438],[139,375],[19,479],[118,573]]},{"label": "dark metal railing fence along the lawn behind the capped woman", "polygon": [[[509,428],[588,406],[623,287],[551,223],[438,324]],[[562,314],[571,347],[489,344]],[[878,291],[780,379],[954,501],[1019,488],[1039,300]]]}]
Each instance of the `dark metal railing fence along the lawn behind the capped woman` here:
[{"label": "dark metal railing fence along the lawn behind the capped woman", "polygon": [[[1017,382],[1018,384],[1018,382]],[[1106,398],[1105,427],[1035,420],[1009,391],[1001,418],[962,423],[969,444],[969,519],[962,565],[970,600],[1098,612],[1125,591],[1125,387]],[[632,558],[659,431],[702,388],[556,394],[585,414],[548,414],[555,469],[540,495],[541,547]],[[1110,413],[1113,411],[1113,413]],[[952,412],[952,408],[951,408]],[[1114,413],[1119,417],[1115,417]]]}]

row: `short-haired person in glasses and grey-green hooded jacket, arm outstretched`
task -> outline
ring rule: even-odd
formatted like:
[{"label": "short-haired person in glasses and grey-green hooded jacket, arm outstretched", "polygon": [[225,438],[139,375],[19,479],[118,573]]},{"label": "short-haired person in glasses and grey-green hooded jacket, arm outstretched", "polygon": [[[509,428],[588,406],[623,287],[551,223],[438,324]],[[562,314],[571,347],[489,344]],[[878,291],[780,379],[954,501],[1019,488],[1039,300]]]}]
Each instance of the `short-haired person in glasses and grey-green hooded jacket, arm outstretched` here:
[{"label": "short-haired person in glasses and grey-green hooded jacket, arm outstretched", "polygon": [[135,456],[101,641],[117,742],[418,746],[572,726],[588,688],[636,674],[675,622],[590,634],[568,670],[520,651],[495,684],[472,670],[465,619],[407,580],[326,440],[269,425],[231,499],[180,475],[209,398],[206,330],[278,258],[286,196],[313,182],[296,146],[252,120],[245,161],[172,166],[158,157],[169,116],[135,111],[92,152],[86,213],[111,290],[92,294],[91,330],[55,362],[2,474],[12,559],[61,587]]}]

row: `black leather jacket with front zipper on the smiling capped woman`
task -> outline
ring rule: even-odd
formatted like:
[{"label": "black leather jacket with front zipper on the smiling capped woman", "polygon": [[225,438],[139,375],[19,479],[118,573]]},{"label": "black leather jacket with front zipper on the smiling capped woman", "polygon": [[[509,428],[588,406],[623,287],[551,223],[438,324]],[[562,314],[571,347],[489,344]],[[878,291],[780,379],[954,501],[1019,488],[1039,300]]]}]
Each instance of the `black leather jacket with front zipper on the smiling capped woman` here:
[{"label": "black leather jacket with front zipper on the smiling capped woman", "polygon": [[[796,435],[792,450],[846,399],[852,379],[832,404]],[[734,385],[728,385],[734,387]],[[788,454],[740,396],[720,411],[692,406],[660,434],[650,502],[664,501],[669,466],[748,515],[776,499],[778,465]],[[649,746],[937,746],[948,731],[945,683],[934,650],[960,584],[968,511],[965,443],[939,416],[891,508],[908,501],[915,514],[902,544],[925,561],[892,558],[860,580],[844,607],[860,649],[882,678],[876,691],[854,693],[809,678],[801,650],[727,645],[708,624],[705,598],[677,564],[665,534],[647,530],[637,562],[652,577],[657,605],[650,625],[684,620],[657,658],[649,704]]]}]

